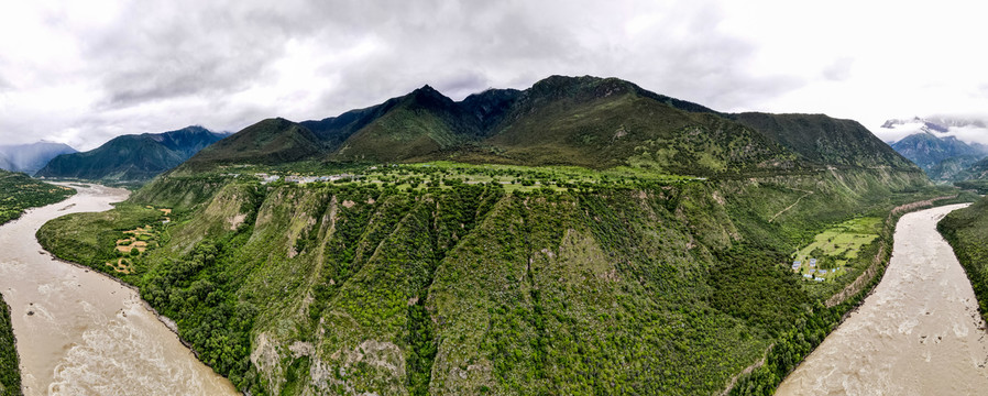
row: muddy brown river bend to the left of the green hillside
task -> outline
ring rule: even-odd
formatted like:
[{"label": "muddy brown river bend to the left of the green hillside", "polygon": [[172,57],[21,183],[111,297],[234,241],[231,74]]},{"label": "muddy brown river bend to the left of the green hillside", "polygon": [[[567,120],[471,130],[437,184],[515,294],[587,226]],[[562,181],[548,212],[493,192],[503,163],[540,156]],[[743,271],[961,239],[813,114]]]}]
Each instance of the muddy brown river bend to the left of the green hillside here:
[{"label": "muddy brown river bend to the left of the green hillside", "polygon": [[0,293],[11,307],[25,395],[235,395],[147,310],[138,293],[54,260],[34,233],[103,211],[123,189],[90,186],[0,227]]}]

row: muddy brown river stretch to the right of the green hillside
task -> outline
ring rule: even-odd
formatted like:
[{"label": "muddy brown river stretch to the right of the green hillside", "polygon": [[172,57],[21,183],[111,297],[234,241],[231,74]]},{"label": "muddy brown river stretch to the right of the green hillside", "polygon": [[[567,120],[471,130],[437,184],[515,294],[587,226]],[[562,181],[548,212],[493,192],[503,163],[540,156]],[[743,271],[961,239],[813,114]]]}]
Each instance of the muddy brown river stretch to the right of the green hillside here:
[{"label": "muddy brown river stretch to the right of the green hillside", "polygon": [[978,302],[936,222],[952,205],[903,216],[875,292],[813,351],[779,395],[985,395]]}]

